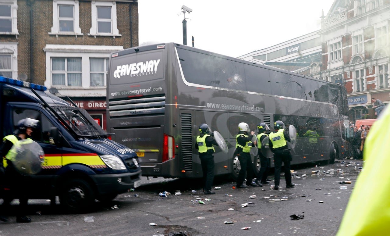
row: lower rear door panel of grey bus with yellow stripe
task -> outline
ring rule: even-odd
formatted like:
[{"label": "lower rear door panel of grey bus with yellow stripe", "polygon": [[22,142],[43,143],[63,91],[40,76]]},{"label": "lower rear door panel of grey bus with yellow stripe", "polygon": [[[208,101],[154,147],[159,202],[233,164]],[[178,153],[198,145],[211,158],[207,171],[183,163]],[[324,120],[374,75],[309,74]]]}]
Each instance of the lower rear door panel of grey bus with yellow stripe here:
[{"label": "lower rear door panel of grey bus with yellow stripe", "polygon": [[[141,167],[161,163],[164,135],[162,127],[113,129],[112,139],[137,152]],[[146,165],[146,166],[145,166]]]}]

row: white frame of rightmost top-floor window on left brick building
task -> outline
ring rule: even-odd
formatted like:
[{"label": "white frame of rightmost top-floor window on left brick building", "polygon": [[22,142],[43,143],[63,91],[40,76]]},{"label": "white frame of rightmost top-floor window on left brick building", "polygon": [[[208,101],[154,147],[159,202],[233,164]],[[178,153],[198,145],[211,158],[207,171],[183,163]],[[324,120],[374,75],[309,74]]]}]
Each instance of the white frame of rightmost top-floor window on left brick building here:
[{"label": "white frame of rightmost top-floor window on left brick building", "polygon": [[[111,33],[99,33],[97,32],[97,7],[111,7],[111,16],[112,16],[112,26]],[[89,29],[90,36],[122,36],[119,34],[119,30],[117,28],[117,4],[116,2],[100,2],[100,1],[92,1],[91,2],[91,28]]]}]

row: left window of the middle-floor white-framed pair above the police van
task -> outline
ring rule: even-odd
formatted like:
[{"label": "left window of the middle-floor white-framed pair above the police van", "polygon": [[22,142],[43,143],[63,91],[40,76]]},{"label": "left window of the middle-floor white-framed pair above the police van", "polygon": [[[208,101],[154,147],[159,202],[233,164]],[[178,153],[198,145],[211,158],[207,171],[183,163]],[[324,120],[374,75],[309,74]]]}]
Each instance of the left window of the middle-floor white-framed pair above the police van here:
[{"label": "left window of the middle-floor white-framed pair above the police van", "polygon": [[52,57],[53,86],[82,86],[81,58]]}]

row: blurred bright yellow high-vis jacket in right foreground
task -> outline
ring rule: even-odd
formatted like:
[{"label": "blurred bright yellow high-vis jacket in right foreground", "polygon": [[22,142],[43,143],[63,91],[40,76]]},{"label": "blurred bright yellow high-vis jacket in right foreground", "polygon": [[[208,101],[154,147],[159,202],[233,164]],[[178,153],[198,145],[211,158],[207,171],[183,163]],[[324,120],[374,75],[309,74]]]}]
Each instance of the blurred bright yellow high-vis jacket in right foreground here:
[{"label": "blurred bright yellow high-vis jacket in right foreground", "polygon": [[390,235],[390,106],[372,125],[365,160],[337,236]]}]

